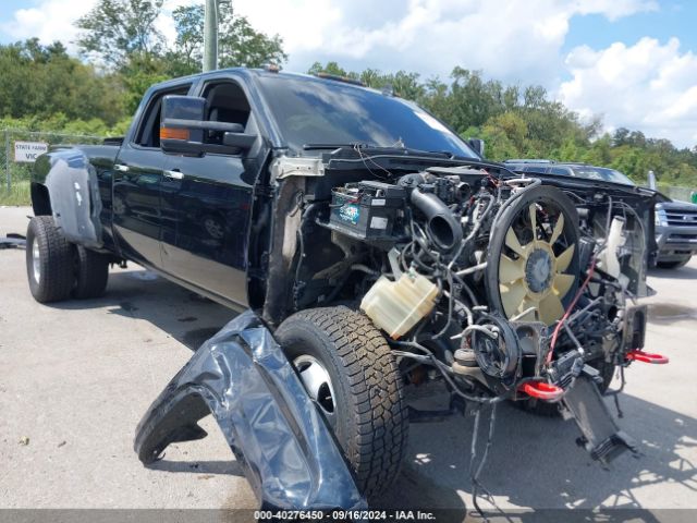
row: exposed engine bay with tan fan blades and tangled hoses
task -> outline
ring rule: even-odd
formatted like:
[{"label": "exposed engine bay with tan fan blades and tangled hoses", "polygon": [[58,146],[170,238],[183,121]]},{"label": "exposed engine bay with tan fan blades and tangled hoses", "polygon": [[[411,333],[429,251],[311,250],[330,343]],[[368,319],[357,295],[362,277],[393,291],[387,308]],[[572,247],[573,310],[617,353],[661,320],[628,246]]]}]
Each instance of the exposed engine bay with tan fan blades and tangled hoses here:
[{"label": "exposed engine bay with tan fan blades and tangled hoses", "polygon": [[[355,153],[359,168],[333,158],[319,175],[280,181],[285,220],[270,265],[282,254],[294,278],[273,294],[269,270],[267,321],[360,309],[405,382],[443,380],[470,403],[573,414],[578,379],[604,393],[619,370],[624,384],[646,354],[637,297],[648,292],[650,195],[496,165],[386,169]],[[614,428],[588,447],[595,458],[631,447]]]}]

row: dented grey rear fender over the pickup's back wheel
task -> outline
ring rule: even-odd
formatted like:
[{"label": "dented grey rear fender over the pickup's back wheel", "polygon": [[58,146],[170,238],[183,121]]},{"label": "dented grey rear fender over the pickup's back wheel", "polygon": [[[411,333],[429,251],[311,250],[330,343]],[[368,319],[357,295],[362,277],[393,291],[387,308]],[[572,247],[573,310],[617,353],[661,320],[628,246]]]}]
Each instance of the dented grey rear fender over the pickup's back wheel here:
[{"label": "dented grey rear fender over the pickup's back wheel", "polygon": [[33,181],[48,188],[56,224],[73,243],[100,248],[101,197],[97,171],[77,148],[59,148],[41,155]]}]

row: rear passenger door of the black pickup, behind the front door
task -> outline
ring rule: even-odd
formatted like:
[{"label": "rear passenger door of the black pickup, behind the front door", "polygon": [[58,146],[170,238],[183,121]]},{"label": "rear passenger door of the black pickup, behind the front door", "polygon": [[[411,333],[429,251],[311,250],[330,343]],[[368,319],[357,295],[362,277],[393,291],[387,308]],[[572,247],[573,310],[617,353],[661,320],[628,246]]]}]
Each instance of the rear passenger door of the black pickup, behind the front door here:
[{"label": "rear passenger door of the black pickup, behind the front door", "polygon": [[[167,156],[160,149],[160,106],[164,95],[185,95],[189,84],[154,93],[114,162],[113,227],[120,248],[135,262],[160,268],[160,186]],[[138,118],[139,117],[139,118]]]}]

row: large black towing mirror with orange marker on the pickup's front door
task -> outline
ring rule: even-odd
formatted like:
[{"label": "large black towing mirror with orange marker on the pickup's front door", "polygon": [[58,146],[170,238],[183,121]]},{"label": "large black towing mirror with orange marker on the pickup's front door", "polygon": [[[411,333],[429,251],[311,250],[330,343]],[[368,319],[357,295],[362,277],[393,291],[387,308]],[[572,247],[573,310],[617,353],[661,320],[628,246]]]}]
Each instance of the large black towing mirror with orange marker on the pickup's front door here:
[{"label": "large black towing mirror with orange marker on the pickup's front door", "polygon": [[[237,155],[252,148],[256,135],[245,134],[240,123],[205,120],[206,98],[170,95],[162,98],[160,147],[166,154],[201,156],[205,153]],[[205,131],[222,134],[206,143]],[[222,142],[222,143],[220,143]]]}]

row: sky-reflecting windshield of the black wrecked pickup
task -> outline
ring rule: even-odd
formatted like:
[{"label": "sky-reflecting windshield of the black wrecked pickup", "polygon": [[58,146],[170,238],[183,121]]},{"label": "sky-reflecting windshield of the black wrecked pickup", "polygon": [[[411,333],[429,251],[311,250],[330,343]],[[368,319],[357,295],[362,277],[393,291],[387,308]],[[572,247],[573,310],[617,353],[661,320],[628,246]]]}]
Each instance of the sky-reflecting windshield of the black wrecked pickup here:
[{"label": "sky-reflecting windshield of the black wrecked pickup", "polygon": [[328,80],[259,76],[286,145],[368,144],[478,158],[416,105]]}]

